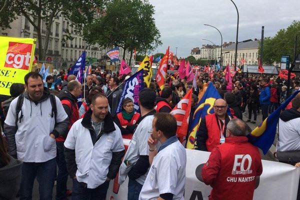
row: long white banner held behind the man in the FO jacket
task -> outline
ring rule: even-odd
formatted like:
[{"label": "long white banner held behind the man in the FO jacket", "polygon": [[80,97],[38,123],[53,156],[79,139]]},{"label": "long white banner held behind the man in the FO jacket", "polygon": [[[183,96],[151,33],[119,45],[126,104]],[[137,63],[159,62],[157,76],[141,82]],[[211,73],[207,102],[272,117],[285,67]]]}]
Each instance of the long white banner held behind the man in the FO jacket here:
[{"label": "long white banner held behind the man in the FO jacket", "polygon": [[[199,164],[207,161],[209,154],[209,152],[186,149],[187,160],[184,199],[208,199],[211,187],[196,178],[195,169]],[[259,185],[254,191],[253,199],[296,199],[300,175],[299,167],[268,160],[262,160],[262,167],[263,172],[260,176]],[[117,180],[110,181],[106,199],[126,200],[127,185],[127,179],[121,185],[117,184]]]}]

